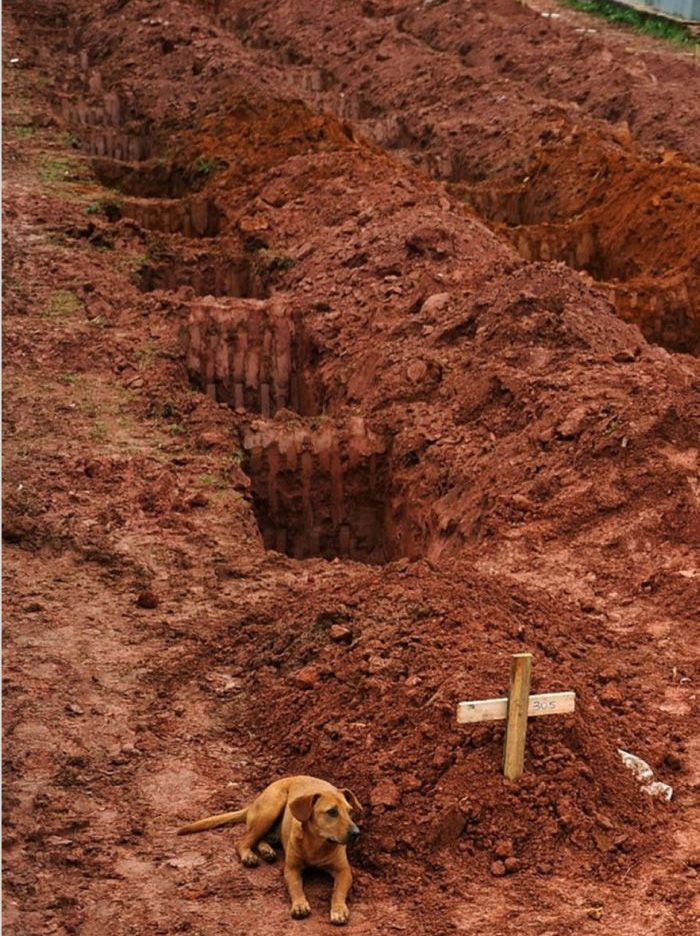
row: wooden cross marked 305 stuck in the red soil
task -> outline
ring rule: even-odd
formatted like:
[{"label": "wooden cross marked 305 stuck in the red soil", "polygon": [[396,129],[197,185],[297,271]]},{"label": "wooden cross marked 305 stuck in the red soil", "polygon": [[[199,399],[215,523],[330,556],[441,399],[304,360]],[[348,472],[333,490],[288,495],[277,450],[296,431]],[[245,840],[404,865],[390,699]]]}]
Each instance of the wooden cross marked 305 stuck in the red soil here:
[{"label": "wooden cross marked 305 stuck in the red soil", "polygon": [[531,696],[531,673],[532,654],[514,653],[507,699],[460,702],[457,706],[457,721],[462,725],[505,718],[503,773],[509,780],[517,780],[523,772],[528,716],[566,715],[576,707],[575,692],[546,692]]}]

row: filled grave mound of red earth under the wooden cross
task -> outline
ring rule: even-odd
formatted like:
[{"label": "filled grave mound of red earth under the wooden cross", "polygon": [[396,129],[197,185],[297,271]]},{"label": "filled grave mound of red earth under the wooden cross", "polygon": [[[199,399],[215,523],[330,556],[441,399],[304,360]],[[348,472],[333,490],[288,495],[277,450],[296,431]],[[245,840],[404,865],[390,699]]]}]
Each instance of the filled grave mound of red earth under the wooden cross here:
[{"label": "filled grave mound of red earth under the wooden cross", "polygon": [[[361,865],[475,876],[573,862],[610,876],[658,845],[672,807],[642,793],[616,752],[641,723],[608,707],[599,673],[615,648],[590,619],[464,566],[358,566],[354,598],[347,570],[318,571],[294,601],[251,609],[219,653],[245,673],[236,718],[259,754],[367,806]],[[458,726],[455,707],[505,695],[509,655],[523,650],[535,654],[532,691],[574,689],[577,710],[530,721],[526,772],[511,783],[503,723]]]}]

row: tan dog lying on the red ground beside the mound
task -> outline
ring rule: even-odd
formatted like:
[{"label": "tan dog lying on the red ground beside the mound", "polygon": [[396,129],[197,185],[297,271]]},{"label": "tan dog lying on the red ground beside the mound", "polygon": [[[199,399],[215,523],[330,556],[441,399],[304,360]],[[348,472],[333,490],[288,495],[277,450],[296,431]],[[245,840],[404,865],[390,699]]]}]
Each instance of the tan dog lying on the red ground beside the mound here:
[{"label": "tan dog lying on the red ground beside the mound", "polygon": [[352,885],[346,845],[360,834],[350,816],[353,809],[362,812],[352,790],[338,790],[316,777],[284,777],[271,783],[250,806],[200,819],[179,829],[178,835],[245,822],[238,854],[248,867],[259,863],[253,848],[257,847],[266,861],[274,861],[277,855],[270,842],[281,842],[292,916],[301,919],[311,913],[302,871],[307,867],[322,868],[333,875],[334,881],[331,923],[341,926],[350,916],[345,900]]}]

